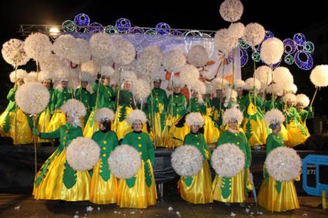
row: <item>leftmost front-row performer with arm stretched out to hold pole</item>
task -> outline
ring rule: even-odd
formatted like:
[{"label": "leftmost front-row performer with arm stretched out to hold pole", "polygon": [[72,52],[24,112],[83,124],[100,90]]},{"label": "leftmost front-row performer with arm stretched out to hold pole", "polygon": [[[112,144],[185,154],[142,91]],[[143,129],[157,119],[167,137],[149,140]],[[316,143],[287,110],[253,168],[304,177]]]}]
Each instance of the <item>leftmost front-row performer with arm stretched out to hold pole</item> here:
[{"label": "leftmost front-row performer with arm stretched out to hold pole", "polygon": [[66,116],[66,124],[53,132],[39,132],[34,135],[41,139],[60,139],[60,144],[36,173],[34,199],[39,200],[89,200],[90,175],[88,170],[76,171],[67,163],[66,150],[76,137],[82,137],[81,118],[86,116],[86,108],[78,100],[68,100],[61,107]]}]

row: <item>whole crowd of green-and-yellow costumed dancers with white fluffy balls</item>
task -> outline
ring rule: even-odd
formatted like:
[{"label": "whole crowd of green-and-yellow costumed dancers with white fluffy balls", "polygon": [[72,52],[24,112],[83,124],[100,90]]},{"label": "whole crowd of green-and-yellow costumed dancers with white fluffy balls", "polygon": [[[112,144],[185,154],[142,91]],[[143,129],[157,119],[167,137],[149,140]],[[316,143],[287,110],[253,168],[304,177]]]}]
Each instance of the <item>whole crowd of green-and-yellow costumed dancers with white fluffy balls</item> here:
[{"label": "whole crowd of green-and-yellow costumed dancers with white fluffy balls", "polygon": [[[207,78],[209,55],[200,45],[188,53],[177,48],[162,53],[151,45],[136,55],[130,41],[106,33],[89,41],[63,34],[53,42],[34,33],[4,43],[4,60],[15,69],[0,116],[1,136],[15,145],[34,142],[35,148],[59,139],[36,169],[34,198],[155,205],[154,149],[162,147],[175,149],[172,168],[181,176],[177,187],[184,200],[243,203],[254,189],[251,148],[262,147],[267,157],[257,202],[272,211],[299,208],[294,180],[301,159],[292,147],[310,136],[306,120],[313,118],[313,101],[297,93],[289,69],[273,69],[282,41],[265,39],[257,23],[236,22],[240,1],[224,1],[220,14],[231,22],[214,36],[223,69],[238,39],[252,48],[261,43],[264,64],[245,81],[234,70],[232,79],[224,71]],[[30,59],[37,69],[27,73],[19,67]],[[233,57],[233,69],[236,61]],[[328,66],[315,67],[310,81],[317,90],[328,86]]]}]

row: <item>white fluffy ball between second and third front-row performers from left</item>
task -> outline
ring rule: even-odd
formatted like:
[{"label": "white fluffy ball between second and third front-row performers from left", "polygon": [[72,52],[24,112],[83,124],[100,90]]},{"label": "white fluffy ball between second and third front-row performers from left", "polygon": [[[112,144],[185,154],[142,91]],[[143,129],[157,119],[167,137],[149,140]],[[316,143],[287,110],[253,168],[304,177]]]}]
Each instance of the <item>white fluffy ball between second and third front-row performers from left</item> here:
[{"label": "white fluffy ball between second and third front-row performers from left", "polygon": [[122,144],[108,158],[109,169],[118,179],[134,177],[141,165],[141,156],[137,149],[128,144]]}]

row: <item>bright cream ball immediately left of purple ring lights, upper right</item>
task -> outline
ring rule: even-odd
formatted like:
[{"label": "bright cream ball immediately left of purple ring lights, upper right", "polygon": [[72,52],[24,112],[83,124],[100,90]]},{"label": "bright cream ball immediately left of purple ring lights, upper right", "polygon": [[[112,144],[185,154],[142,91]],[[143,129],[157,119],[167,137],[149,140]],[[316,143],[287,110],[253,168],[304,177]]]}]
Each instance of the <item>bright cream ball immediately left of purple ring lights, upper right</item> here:
[{"label": "bright cream ball immediately left of purple ring lights, upper right", "polygon": [[275,64],[281,60],[284,43],[278,38],[266,39],[261,45],[261,59],[266,64]]}]

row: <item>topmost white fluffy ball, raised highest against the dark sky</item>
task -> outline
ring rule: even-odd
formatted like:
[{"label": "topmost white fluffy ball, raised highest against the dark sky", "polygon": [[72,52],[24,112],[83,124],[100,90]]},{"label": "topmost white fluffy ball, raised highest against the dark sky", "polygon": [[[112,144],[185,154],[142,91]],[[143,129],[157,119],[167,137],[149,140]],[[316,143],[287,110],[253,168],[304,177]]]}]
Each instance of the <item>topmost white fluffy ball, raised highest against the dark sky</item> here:
[{"label": "topmost white fluffy ball, raised highest against the dark sky", "polygon": [[244,6],[242,6],[239,0],[225,0],[221,3],[219,12],[221,18],[228,22],[236,22],[240,20],[242,12],[244,11]]}]

